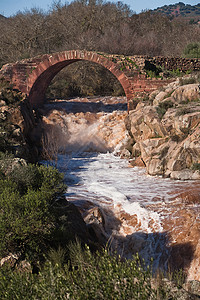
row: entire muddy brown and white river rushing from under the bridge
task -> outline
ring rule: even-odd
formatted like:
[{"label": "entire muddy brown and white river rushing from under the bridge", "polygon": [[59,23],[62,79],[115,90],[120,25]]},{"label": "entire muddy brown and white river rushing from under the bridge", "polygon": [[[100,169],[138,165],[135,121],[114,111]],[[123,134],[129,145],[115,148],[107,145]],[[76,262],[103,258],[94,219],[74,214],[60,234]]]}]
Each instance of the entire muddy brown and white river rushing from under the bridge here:
[{"label": "entire muddy brown and white river rushing from under the bridge", "polygon": [[[58,155],[58,169],[68,185],[66,198],[88,224],[99,224],[99,239],[121,256],[139,252],[146,263],[153,258],[154,269],[194,269],[191,236],[199,228],[200,205],[187,203],[183,194],[194,187],[200,192],[200,183],[152,177],[117,156],[127,139],[123,104],[124,98],[78,98],[46,107],[45,121],[67,132],[66,153]],[[189,257],[183,261],[185,252]]]}]

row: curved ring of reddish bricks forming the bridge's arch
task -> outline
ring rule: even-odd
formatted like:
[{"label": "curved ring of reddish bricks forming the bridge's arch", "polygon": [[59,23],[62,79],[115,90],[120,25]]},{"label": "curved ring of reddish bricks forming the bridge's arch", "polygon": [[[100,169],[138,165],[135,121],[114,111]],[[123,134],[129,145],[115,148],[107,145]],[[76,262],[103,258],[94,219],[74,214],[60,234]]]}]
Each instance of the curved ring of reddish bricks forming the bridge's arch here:
[{"label": "curved ring of reddish bricks forming the bridge's arch", "polygon": [[46,89],[54,76],[64,67],[80,60],[91,61],[108,69],[121,83],[127,100],[133,97],[131,82],[117,64],[96,52],[70,50],[42,56],[37,66],[31,70],[26,80],[31,105],[41,106],[45,100]]}]

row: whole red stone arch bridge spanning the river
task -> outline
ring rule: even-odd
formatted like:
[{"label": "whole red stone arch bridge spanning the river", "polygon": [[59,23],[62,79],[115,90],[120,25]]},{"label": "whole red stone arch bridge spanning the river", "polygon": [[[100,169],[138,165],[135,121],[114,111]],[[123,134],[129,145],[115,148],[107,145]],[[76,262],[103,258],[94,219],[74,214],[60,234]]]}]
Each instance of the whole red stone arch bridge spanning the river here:
[{"label": "whole red stone arch bridge spanning the river", "polygon": [[[141,58],[141,57],[140,57]],[[121,55],[71,50],[45,54],[34,58],[6,64],[0,70],[14,88],[27,94],[33,108],[45,101],[45,92],[54,76],[68,65],[86,60],[97,63],[113,73],[121,83],[127,97],[128,110],[137,93],[149,92],[166,84],[165,80],[149,80],[141,72],[144,59]]]}]

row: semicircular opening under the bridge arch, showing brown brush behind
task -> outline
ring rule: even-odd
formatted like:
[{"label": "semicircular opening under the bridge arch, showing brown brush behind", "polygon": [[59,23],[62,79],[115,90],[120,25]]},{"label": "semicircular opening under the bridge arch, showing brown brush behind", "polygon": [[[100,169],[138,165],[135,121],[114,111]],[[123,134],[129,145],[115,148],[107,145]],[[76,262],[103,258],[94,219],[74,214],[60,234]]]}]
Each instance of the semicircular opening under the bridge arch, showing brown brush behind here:
[{"label": "semicircular opening under the bridge arch, showing brown brush behind", "polygon": [[125,96],[119,80],[105,67],[78,61],[58,72],[46,91],[46,99],[73,97]]}]

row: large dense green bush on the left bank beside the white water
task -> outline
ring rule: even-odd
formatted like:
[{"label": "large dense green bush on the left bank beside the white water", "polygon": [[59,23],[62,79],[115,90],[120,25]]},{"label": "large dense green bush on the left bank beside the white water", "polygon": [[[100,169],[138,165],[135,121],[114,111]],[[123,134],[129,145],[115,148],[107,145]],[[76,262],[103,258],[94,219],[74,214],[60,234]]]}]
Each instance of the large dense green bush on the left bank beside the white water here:
[{"label": "large dense green bush on the left bank beside the white water", "polygon": [[19,167],[0,180],[0,256],[20,252],[30,260],[45,253],[54,230],[53,201],[63,175],[45,166]]}]

